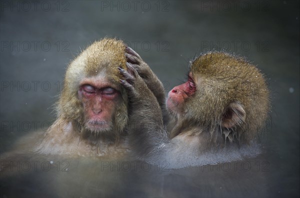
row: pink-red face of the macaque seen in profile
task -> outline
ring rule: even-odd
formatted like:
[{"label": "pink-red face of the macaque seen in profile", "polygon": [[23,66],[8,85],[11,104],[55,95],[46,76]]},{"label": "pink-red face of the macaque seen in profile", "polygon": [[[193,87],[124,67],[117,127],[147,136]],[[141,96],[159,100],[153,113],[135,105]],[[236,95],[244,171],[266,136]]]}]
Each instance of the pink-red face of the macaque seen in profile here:
[{"label": "pink-red face of the macaque seen in profile", "polygon": [[187,81],[175,86],[169,91],[166,106],[175,113],[183,111],[183,103],[186,98],[191,96],[196,90],[196,84],[192,78],[192,73],[188,74]]}]

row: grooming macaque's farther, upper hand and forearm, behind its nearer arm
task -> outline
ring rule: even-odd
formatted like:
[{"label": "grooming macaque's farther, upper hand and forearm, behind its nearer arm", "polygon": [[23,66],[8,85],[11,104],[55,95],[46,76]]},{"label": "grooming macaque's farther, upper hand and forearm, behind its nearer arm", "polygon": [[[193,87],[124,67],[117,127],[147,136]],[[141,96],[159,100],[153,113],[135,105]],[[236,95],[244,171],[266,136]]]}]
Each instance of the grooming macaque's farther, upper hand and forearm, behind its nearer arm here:
[{"label": "grooming macaque's farther, upper hand and forearm, behind its nearer arm", "polygon": [[146,83],[147,87],[152,91],[160,106],[163,106],[165,95],[161,81],[152,72],[148,64],[142,60],[138,53],[128,46],[126,47],[125,51],[125,56],[127,59],[126,65],[133,67],[136,70],[139,76]]}]

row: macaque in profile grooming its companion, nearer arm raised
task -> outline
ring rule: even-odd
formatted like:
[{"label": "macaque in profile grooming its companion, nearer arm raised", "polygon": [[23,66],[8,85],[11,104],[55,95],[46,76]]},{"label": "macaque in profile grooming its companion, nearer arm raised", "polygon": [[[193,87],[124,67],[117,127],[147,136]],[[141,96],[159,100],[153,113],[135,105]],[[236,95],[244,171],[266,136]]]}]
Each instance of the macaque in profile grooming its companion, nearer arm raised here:
[{"label": "macaque in profile grooming its companion, nearer arm raised", "polygon": [[260,152],[255,137],[267,118],[268,89],[260,71],[243,58],[209,52],[190,61],[187,81],[168,93],[166,108],[175,123],[169,137],[155,96],[141,77],[134,68],[119,70],[129,106],[134,106],[129,119],[139,120],[130,136],[141,158],[183,167]]}]

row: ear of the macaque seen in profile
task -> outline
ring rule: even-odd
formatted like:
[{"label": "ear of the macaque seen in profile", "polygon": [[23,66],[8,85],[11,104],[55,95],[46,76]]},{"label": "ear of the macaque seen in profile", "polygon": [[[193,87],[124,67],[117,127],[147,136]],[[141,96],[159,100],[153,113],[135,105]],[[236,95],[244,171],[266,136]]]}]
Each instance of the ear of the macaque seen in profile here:
[{"label": "ear of the macaque seen in profile", "polygon": [[231,102],[222,117],[222,127],[233,128],[245,121],[246,112],[238,101]]}]

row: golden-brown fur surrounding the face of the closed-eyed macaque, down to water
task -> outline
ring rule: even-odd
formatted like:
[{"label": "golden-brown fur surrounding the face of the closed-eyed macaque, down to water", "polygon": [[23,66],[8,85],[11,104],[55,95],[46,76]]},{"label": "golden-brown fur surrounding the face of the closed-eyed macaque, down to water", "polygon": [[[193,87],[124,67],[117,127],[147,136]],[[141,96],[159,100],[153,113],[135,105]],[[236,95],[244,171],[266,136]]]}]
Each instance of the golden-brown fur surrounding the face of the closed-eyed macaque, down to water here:
[{"label": "golden-brown fur surrounding the face of the closed-eyed macaque, down to water", "polygon": [[[119,85],[120,74],[117,67],[125,68],[125,45],[121,40],[104,38],[95,41],[82,51],[67,67],[64,87],[57,104],[57,120],[45,134],[37,147],[42,153],[76,153],[102,155],[116,150],[125,135],[128,121],[127,94]],[[107,80],[115,84],[121,92],[113,114],[113,129],[110,134],[90,134],[85,131],[83,106],[78,98],[80,81],[104,72]],[[60,127],[59,127],[60,126]]]}]

